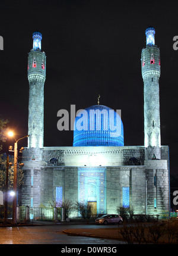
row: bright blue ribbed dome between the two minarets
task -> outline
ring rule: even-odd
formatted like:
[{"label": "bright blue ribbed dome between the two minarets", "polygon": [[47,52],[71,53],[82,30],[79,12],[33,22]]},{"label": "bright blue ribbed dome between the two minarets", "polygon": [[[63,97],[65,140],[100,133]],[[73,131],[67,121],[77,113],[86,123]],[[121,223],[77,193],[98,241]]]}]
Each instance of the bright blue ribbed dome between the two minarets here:
[{"label": "bright blue ribbed dome between the two minarets", "polygon": [[73,146],[123,146],[123,124],[112,108],[94,105],[75,118]]}]

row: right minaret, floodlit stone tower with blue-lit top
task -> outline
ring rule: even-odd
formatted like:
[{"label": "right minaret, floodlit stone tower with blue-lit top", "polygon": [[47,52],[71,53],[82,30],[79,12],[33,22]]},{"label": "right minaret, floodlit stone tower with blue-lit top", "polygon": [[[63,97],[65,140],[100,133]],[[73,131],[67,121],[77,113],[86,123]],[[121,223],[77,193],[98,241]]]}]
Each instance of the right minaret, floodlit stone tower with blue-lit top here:
[{"label": "right minaret, floodlit stone tower with blue-lit top", "polygon": [[147,46],[142,49],[142,78],[144,80],[144,135],[147,159],[161,159],[160,134],[160,49],[155,45],[155,29],[145,30]]}]

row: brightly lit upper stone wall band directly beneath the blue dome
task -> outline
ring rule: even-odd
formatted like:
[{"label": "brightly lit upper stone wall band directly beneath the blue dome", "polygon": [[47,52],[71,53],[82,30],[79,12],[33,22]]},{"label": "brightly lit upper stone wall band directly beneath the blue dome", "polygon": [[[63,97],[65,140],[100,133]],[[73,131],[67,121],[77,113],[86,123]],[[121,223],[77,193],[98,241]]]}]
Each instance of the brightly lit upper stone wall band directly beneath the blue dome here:
[{"label": "brightly lit upper stone wall band directly beneath the blue dome", "polygon": [[49,164],[56,158],[59,166],[123,166],[131,164],[129,159],[135,157],[142,165],[144,152],[142,146],[46,147],[43,161]]}]

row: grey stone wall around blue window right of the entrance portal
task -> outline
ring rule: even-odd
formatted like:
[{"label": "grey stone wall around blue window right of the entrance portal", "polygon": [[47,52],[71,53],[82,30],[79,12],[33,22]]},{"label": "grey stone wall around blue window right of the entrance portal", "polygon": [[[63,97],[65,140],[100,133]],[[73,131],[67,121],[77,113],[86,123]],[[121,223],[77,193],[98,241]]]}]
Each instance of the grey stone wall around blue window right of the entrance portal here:
[{"label": "grey stone wall around blue window right of the entrance portal", "polygon": [[129,187],[129,205],[136,214],[145,214],[145,167],[107,167],[107,212],[123,206],[123,187]]}]

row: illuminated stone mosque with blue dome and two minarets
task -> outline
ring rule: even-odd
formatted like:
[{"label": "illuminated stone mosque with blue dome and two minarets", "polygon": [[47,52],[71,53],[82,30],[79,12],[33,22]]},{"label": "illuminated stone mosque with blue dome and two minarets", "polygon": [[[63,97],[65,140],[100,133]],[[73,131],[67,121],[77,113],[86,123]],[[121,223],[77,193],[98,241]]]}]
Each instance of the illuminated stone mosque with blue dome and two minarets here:
[{"label": "illuminated stone mosque with blue dome and two minarets", "polygon": [[[46,55],[42,34],[33,33],[28,54],[28,146],[23,151],[22,205],[39,207],[65,199],[91,204],[93,214],[132,207],[135,214],[170,211],[169,147],[160,135],[160,49],[155,29],[145,30],[141,53],[144,82],[144,145],[124,146],[117,111],[98,104],[81,110],[74,122],[72,146],[43,146]],[[78,213],[76,213],[78,214]]]}]

